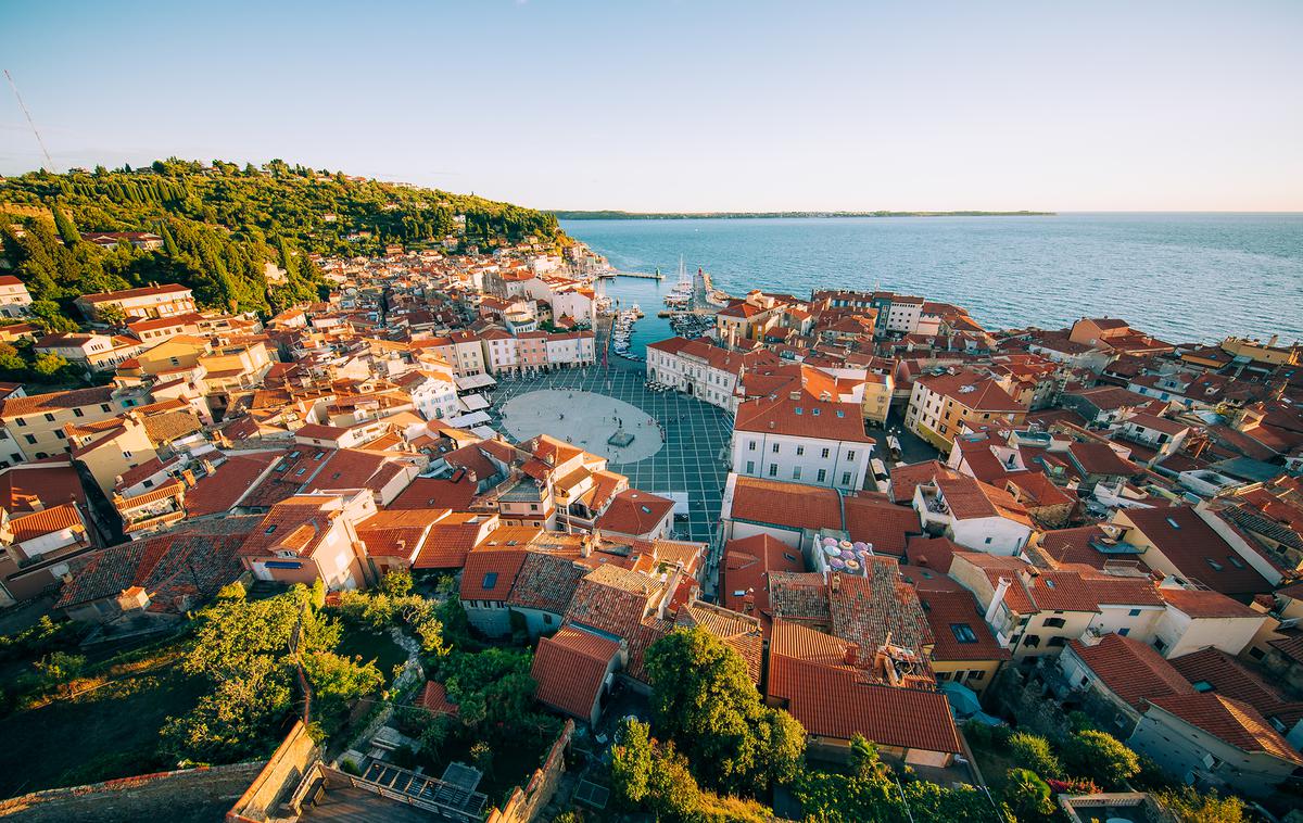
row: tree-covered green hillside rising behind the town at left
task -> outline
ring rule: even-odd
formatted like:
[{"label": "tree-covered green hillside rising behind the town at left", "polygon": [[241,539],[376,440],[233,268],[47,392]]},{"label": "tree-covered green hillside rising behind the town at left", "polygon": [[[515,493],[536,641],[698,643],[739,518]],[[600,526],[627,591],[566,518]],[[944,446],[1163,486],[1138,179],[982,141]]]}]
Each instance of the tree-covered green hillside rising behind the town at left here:
[{"label": "tree-covered green hillside rising behind the town at left", "polygon": [[[86,232],[152,232],[163,249],[106,251],[82,242]],[[51,328],[72,324],[79,294],[164,281],[193,288],[203,306],[276,311],[318,297],[310,253],[378,254],[450,237],[463,246],[569,242],[546,212],[280,160],[259,169],[172,159],[0,180],[0,266],[27,284]],[[268,284],[266,263],[285,270],[285,281]]]}]

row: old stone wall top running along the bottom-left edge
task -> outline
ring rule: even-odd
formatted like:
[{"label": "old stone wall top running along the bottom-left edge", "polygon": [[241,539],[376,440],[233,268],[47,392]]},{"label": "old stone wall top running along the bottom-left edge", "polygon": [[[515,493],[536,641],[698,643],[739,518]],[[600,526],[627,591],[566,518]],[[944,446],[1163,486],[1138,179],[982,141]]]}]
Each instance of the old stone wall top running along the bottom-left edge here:
[{"label": "old stone wall top running along the bottom-left edge", "polygon": [[263,763],[236,763],[47,789],[0,801],[0,819],[23,823],[211,823],[240,797]]}]

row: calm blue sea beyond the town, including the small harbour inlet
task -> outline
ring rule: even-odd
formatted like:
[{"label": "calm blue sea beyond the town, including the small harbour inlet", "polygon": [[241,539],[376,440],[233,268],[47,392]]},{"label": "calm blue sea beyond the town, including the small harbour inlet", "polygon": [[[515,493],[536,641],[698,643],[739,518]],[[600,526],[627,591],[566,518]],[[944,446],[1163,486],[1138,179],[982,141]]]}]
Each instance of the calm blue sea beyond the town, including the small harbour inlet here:
[{"label": "calm blue sea beyond the town, including the small harbour inlet", "polygon": [[1053,217],[567,220],[627,277],[607,294],[657,320],[679,257],[731,294],[882,288],[964,306],[988,328],[1126,318],[1171,342],[1303,339],[1303,215],[1071,214]]}]

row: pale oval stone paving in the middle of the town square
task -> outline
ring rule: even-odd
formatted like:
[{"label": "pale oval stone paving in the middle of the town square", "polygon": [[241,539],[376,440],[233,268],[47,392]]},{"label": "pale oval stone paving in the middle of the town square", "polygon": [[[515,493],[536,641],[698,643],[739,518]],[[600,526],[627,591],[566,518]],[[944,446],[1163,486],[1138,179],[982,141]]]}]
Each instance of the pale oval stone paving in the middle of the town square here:
[{"label": "pale oval stone paving in the middle of the town square", "polygon": [[[612,464],[645,460],[665,445],[655,418],[632,404],[605,395],[541,389],[512,397],[500,408],[503,426],[516,440],[551,435]],[[633,435],[633,443],[620,447],[606,441],[615,434],[616,422]]]}]

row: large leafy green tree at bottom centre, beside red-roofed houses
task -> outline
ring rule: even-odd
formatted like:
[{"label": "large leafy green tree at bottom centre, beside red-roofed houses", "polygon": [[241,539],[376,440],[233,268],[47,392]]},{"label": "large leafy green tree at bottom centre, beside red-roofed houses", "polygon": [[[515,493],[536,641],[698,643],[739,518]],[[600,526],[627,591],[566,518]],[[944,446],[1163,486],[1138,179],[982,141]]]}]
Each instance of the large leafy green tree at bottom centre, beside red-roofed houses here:
[{"label": "large leafy green tree at bottom centre, beside red-roofed houses", "polygon": [[711,633],[672,632],[648,650],[646,667],[657,727],[705,783],[756,792],[800,768],[800,725],[761,702],[745,662]]}]

